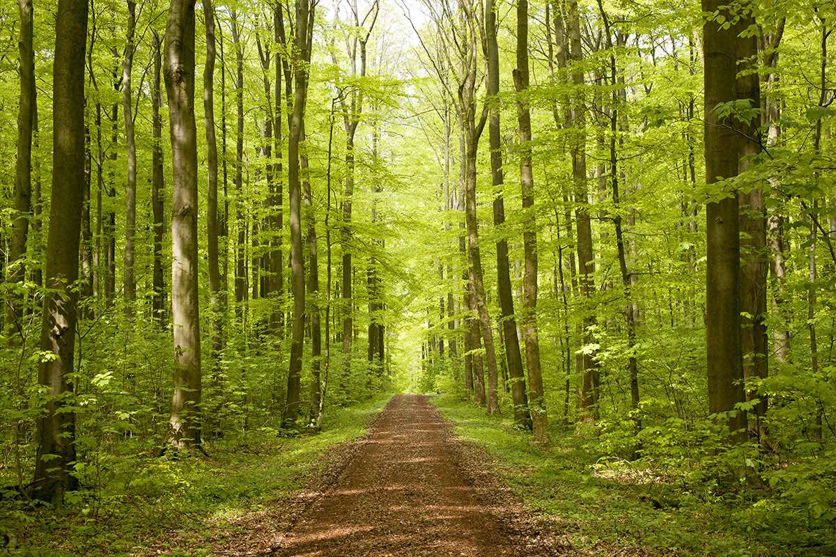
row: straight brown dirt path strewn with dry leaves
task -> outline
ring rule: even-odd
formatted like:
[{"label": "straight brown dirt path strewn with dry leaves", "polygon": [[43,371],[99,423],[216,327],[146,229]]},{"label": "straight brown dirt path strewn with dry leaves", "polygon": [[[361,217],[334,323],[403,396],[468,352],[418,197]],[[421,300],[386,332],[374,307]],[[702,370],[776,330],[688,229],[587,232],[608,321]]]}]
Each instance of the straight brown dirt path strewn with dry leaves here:
[{"label": "straight brown dirt path strewn with dry leaves", "polygon": [[428,397],[398,395],[338,482],[275,555],[383,557],[520,554],[502,510],[479,494]]}]

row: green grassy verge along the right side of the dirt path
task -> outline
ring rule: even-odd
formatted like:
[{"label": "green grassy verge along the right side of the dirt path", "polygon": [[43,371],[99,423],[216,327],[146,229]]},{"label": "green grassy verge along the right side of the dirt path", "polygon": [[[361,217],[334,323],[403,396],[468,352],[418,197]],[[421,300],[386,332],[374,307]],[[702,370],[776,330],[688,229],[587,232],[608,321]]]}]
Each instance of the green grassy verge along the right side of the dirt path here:
[{"label": "green grassy verge along the right side of the dirt path", "polygon": [[595,453],[594,436],[562,426],[551,428],[551,447],[540,448],[513,428],[509,413],[488,416],[451,394],[433,403],[460,438],[487,450],[502,483],[582,554],[836,554],[833,524],[811,524],[762,491],[684,484],[647,463]]}]

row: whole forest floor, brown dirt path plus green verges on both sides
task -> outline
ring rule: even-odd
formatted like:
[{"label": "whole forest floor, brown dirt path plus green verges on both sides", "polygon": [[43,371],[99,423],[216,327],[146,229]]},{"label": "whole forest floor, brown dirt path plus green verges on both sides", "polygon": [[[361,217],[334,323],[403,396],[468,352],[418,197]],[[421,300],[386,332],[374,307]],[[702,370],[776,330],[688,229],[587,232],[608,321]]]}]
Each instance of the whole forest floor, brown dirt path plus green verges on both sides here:
[{"label": "whole forest floor, brown dirt path plus green verges on both sides", "polygon": [[510,416],[453,395],[377,398],[328,416],[317,435],[253,431],[211,458],[125,464],[126,477],[70,509],[8,514],[18,521],[6,530],[14,549],[0,555],[783,557],[836,548],[832,531],[774,509],[602,468],[589,438],[561,426],[539,447]]}]

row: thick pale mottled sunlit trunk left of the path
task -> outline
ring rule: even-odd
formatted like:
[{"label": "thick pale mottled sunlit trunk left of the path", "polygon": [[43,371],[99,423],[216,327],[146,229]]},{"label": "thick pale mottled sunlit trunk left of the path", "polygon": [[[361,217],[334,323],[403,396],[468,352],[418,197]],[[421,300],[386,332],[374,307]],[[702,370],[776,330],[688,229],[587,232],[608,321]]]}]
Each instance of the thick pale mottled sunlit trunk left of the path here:
[{"label": "thick pale mottled sunlit trunk left of the path", "polygon": [[164,73],[171,130],[171,325],[174,397],[170,443],[201,444],[201,327],[197,256],[195,0],[171,0]]}]

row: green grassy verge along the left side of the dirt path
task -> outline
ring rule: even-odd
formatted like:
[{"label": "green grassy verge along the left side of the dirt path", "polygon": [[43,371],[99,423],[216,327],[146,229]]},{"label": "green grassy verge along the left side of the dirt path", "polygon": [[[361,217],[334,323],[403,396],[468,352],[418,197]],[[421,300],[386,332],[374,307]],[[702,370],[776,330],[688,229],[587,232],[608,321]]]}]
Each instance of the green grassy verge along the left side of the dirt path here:
[{"label": "green grassy verge along the left side of the dirt path", "polygon": [[111,458],[100,467],[103,487],[68,494],[64,509],[3,503],[0,534],[8,541],[0,555],[208,555],[200,549],[207,540],[233,528],[223,519],[301,489],[325,465],[324,453],[364,435],[390,397],[329,409],[318,434],[290,438],[262,428],[207,443],[208,457]]}]

